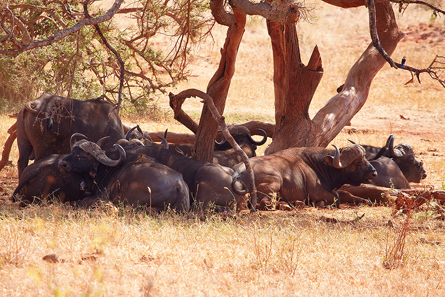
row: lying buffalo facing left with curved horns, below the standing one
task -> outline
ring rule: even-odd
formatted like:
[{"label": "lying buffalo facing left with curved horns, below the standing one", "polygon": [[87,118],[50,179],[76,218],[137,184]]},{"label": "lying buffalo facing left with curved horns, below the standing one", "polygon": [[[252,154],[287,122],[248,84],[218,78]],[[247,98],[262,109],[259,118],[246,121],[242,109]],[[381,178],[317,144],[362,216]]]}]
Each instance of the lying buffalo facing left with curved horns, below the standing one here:
[{"label": "lying buffalo facing left with curved horns, below the standing one", "polygon": [[188,187],[178,172],[142,154],[127,157],[124,148],[117,144],[114,147],[119,151],[118,159],[109,158],[97,144],[80,140],[59,161],[62,172],[94,180],[95,195],[75,205],[89,206],[101,199],[132,207],[147,206],[156,211],[169,207],[178,211],[189,209]]}]

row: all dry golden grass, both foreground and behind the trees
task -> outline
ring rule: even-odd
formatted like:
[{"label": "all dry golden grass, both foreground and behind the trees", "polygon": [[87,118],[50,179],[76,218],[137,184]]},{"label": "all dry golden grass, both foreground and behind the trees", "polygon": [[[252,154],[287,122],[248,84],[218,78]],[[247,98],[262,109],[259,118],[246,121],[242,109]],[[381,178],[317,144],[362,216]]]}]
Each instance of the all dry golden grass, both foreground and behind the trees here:
[{"label": "all dry golden grass, both foreground and behind the trees", "polygon": [[[335,94],[370,42],[364,7],[321,6],[314,12],[316,24],[299,24],[303,62],[315,44],[323,59],[312,115]],[[413,7],[399,25],[408,31],[412,24],[428,23],[429,17],[428,10]],[[443,18],[435,22],[444,26]],[[195,54],[189,82],[172,92],[206,89],[225,28],[216,28],[214,37],[215,45],[202,46]],[[443,41],[416,43],[408,37],[393,57],[406,55],[413,66],[426,67],[444,49]],[[228,123],[273,121],[272,75],[265,22],[252,18],[227,99]],[[408,79],[408,73],[385,66],[352,121],[356,132],[345,130],[333,143],[345,146],[352,139],[383,145],[395,133],[396,143],[407,142],[420,152],[428,172],[424,185],[440,187],[445,182],[444,90],[427,77],[421,85],[404,86]],[[168,110],[167,96],[161,104]],[[199,118],[202,103],[188,99],[184,108]],[[3,144],[14,120],[0,118]],[[145,130],[188,132],[172,119],[125,121]],[[1,172],[3,198],[15,188],[17,158],[14,146],[13,164]],[[202,221],[193,214],[150,216],[112,205],[85,211],[48,203],[23,209],[1,204],[0,296],[444,296],[445,223],[435,220],[431,210],[414,213],[405,229],[403,265],[387,270],[387,243],[391,247],[397,241],[406,218],[391,213],[385,206],[306,208],[210,214]],[[55,262],[43,260],[52,254],[48,258]]]}]

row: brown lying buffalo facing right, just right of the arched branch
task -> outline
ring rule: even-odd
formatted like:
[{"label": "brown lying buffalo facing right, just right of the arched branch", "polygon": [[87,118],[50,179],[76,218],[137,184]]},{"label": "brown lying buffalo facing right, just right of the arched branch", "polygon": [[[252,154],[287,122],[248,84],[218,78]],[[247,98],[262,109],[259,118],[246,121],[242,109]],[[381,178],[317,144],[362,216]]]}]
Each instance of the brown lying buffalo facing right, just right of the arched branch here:
[{"label": "brown lying buffalo facing right, just right of the arched branch", "polygon": [[[335,146],[334,146],[335,147]],[[323,206],[336,203],[364,202],[345,191],[335,191],[346,183],[360,185],[374,179],[377,173],[365,159],[365,150],[351,145],[335,150],[326,148],[288,148],[271,155],[250,158],[255,174],[255,185],[263,207],[270,200],[270,193],[277,193],[281,201],[295,206]],[[233,167],[247,183],[244,163]]]}]

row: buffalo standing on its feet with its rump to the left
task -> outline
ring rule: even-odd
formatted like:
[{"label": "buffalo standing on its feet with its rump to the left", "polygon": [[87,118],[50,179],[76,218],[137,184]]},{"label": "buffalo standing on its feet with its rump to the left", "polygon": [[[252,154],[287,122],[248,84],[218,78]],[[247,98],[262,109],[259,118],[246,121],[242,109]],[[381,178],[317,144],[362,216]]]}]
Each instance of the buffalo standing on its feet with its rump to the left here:
[{"label": "buffalo standing on its feet with its rump to the left", "polygon": [[112,148],[124,135],[121,119],[110,103],[86,101],[44,94],[25,103],[17,116],[17,162],[19,178],[28,160],[70,152],[70,137],[82,133],[91,141],[110,138],[104,148]]}]

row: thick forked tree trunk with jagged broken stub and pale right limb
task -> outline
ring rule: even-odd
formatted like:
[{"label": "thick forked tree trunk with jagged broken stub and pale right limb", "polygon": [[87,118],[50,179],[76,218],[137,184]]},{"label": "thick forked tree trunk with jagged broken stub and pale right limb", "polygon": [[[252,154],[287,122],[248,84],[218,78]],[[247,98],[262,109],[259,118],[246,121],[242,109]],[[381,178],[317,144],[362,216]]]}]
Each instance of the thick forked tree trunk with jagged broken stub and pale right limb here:
[{"label": "thick forked tree trunk with jagged broken stub and pale right limb", "polygon": [[[344,5],[342,1],[329,3]],[[390,2],[377,2],[375,6],[378,36],[391,55],[404,33],[399,31]],[[292,147],[326,147],[363,106],[373,78],[386,61],[371,43],[352,66],[343,90],[311,120],[309,105],[323,74],[318,49],[315,47],[308,66],[304,66],[295,26],[268,22],[268,28],[273,50],[276,128],[267,153]]]}]

